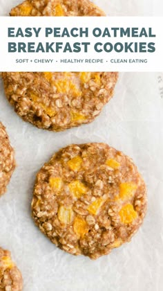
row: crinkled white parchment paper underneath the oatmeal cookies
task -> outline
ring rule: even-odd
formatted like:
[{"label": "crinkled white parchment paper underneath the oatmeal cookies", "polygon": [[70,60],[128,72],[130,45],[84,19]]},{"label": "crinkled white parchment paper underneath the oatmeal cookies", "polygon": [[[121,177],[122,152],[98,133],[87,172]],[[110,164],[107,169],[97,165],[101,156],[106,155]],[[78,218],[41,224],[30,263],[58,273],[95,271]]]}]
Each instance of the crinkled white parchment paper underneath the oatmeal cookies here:
[{"label": "crinkled white parchment paper underneath the oatmeal cookies", "polygon": [[[19,0],[0,0],[0,14],[8,15],[16,3]],[[162,16],[163,11],[162,0],[95,3],[113,16]],[[115,96],[93,123],[55,133],[22,121],[6,100],[0,81],[0,120],[17,159],[8,192],[0,199],[0,245],[12,252],[23,274],[24,291],[163,290],[162,90],[163,73],[121,73]],[[131,243],[97,261],[57,249],[30,218],[39,168],[59,148],[93,141],[106,142],[133,157],[148,187],[148,213],[141,229]]]}]

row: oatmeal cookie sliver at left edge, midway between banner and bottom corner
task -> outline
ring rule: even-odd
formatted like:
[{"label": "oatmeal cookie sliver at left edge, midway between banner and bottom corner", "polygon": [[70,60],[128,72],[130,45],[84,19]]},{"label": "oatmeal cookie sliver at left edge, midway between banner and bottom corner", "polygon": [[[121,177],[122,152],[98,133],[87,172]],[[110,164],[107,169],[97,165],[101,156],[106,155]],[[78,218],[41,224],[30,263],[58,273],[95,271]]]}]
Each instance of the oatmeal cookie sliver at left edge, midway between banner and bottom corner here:
[{"label": "oatmeal cookie sliver at left edge, midway between banner and bottom corner", "polygon": [[6,186],[15,170],[15,152],[10,145],[6,127],[0,122],[0,196],[6,192]]}]

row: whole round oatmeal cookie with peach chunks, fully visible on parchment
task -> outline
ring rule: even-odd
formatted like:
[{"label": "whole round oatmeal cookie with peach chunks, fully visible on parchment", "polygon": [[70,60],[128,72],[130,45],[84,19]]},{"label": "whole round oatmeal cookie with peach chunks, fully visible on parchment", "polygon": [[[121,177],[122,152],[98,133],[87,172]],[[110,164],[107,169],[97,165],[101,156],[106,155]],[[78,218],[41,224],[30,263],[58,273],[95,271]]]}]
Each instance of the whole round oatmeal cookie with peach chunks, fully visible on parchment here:
[{"label": "whole round oatmeal cookie with peach chunks, fully visible on parchment", "polygon": [[131,158],[105,143],[68,145],[37,174],[32,218],[64,251],[98,258],[131,240],[146,186]]}]

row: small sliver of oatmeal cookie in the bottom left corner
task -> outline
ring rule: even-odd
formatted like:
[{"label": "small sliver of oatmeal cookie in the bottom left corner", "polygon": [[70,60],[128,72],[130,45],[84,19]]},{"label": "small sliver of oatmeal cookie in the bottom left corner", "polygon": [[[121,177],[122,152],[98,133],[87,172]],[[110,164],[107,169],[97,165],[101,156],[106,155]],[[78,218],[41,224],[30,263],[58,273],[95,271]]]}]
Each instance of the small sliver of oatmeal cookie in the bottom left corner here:
[{"label": "small sliver of oatmeal cookie in the bottom left corner", "polygon": [[10,252],[0,247],[0,290],[21,291],[22,288],[21,272],[12,262]]}]

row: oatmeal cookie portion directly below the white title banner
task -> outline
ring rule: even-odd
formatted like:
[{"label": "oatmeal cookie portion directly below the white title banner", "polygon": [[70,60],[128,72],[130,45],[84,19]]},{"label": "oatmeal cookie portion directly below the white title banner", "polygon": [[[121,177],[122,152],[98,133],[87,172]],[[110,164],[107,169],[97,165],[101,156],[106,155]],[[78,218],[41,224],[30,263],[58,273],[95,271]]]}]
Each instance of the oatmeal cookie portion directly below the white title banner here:
[{"label": "oatmeal cookie portion directly below the white title banner", "polygon": [[117,73],[2,73],[6,96],[25,121],[60,131],[90,123],[113,96]]}]

